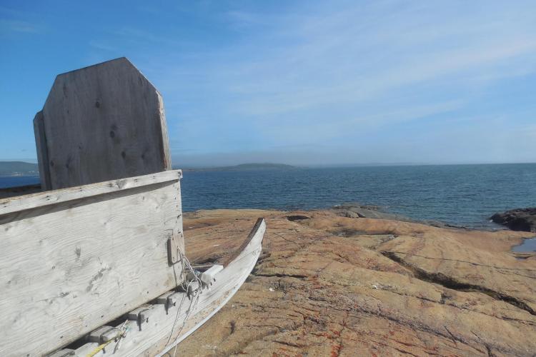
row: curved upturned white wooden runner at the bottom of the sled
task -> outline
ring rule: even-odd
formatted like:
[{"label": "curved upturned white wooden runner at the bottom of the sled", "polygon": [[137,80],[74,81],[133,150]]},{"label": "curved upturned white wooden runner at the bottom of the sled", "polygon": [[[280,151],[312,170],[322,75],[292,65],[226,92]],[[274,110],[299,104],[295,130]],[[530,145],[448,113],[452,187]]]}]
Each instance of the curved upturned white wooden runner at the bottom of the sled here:
[{"label": "curved upturned white wooden runner at the bottom of the sled", "polygon": [[[173,356],[173,353],[167,352],[214,316],[242,286],[257,263],[265,231],[266,223],[259,218],[247,239],[247,245],[241,246],[242,251],[215,275],[216,281],[210,288],[204,288],[192,305],[185,294],[177,293],[175,306],[166,308],[159,303],[146,310],[148,322],[142,328],[136,321],[127,321],[129,331],[121,339],[119,350],[113,356]],[[76,349],[76,356],[86,356],[96,347],[95,343],[86,343]],[[112,342],[95,356],[109,356],[115,348],[116,342]]]}]

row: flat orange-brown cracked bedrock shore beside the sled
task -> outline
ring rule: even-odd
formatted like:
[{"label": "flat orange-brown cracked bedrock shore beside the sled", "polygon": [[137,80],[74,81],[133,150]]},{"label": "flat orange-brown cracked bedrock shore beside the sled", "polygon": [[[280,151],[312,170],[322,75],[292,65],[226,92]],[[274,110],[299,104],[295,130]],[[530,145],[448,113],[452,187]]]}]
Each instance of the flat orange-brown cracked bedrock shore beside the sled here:
[{"label": "flat orange-brown cracked bedrock shore beside the sled", "polygon": [[267,219],[257,266],[178,356],[534,356],[531,233],[327,211],[184,215],[187,256],[221,261]]}]

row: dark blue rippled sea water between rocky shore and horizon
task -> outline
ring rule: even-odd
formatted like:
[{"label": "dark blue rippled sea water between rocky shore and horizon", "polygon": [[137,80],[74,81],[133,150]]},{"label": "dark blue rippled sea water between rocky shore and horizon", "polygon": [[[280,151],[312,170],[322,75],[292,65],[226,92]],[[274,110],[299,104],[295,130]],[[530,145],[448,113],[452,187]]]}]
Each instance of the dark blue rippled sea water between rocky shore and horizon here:
[{"label": "dark blue rippled sea water between rocky shore and horizon", "polygon": [[[1,178],[0,187],[39,182]],[[183,211],[329,208],[358,202],[416,220],[493,229],[493,213],[536,206],[536,164],[185,171]]]}]

